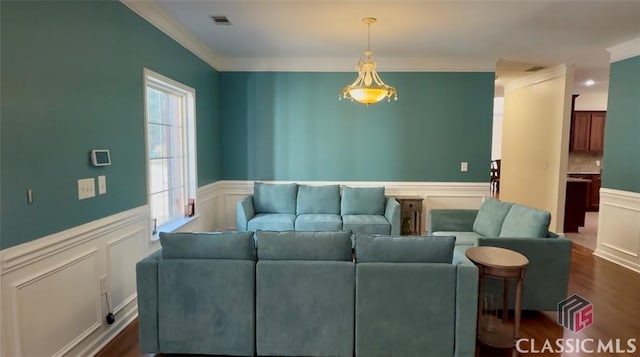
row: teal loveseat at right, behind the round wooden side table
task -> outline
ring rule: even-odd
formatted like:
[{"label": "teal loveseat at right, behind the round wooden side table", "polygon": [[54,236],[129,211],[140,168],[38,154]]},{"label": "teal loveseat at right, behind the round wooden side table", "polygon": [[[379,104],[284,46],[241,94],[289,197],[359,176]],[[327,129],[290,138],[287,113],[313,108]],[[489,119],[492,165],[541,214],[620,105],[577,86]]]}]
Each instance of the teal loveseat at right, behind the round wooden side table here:
[{"label": "teal loveseat at right, behind the round wooden side table", "polygon": [[[456,236],[456,254],[472,246],[511,249],[529,259],[522,292],[522,309],[555,311],[567,297],[571,241],[550,232],[551,214],[517,203],[486,199],[479,209],[433,209],[429,234]],[[515,288],[510,290],[514,306]],[[485,291],[501,296],[502,283],[490,279]]]}]

